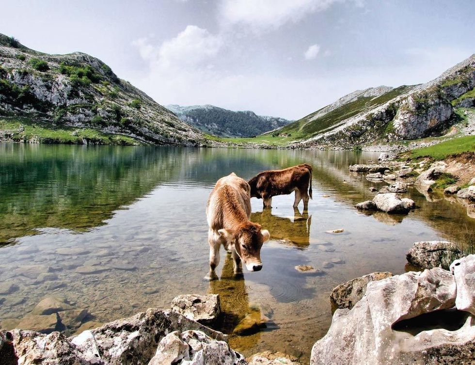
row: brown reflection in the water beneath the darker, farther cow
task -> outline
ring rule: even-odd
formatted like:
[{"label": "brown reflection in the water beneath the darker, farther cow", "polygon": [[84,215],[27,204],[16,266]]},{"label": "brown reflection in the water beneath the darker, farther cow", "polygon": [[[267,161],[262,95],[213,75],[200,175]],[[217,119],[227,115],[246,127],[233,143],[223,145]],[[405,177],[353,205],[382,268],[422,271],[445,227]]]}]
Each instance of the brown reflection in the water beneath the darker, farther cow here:
[{"label": "brown reflection in the water beneath the darker, farther cow", "polygon": [[269,229],[271,239],[282,239],[285,243],[305,249],[310,244],[310,224],[312,216],[304,210],[301,214],[298,208],[294,208],[293,219],[278,217],[271,214],[270,209],[251,214],[251,220],[258,222]]}]

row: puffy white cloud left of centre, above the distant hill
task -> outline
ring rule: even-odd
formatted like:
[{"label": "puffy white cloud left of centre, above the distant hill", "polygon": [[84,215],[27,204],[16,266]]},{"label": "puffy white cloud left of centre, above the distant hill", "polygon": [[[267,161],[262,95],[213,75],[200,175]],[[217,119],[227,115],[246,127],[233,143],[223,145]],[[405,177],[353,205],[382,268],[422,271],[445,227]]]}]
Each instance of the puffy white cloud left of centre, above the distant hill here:
[{"label": "puffy white cloud left of centre, above the distant hill", "polygon": [[209,62],[220,51],[222,37],[195,25],[188,25],[183,32],[159,47],[151,45],[148,38],[138,39],[132,44],[152,68],[164,71],[171,68],[186,69]]}]

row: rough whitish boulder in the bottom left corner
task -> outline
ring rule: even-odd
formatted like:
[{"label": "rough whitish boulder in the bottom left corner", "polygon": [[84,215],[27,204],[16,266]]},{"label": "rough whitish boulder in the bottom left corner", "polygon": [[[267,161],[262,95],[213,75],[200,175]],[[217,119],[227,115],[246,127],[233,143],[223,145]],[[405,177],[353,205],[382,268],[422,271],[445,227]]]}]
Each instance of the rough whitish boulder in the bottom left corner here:
[{"label": "rough whitish boulder in the bottom left corner", "polygon": [[[1,336],[10,338],[9,344],[15,349],[17,362],[21,365],[89,365],[81,352],[59,332],[41,334],[33,331],[13,330]],[[0,349],[1,353],[1,349]],[[0,355],[1,356],[1,355]],[[1,359],[1,357],[0,357]],[[8,361],[1,364],[9,364]]]}]

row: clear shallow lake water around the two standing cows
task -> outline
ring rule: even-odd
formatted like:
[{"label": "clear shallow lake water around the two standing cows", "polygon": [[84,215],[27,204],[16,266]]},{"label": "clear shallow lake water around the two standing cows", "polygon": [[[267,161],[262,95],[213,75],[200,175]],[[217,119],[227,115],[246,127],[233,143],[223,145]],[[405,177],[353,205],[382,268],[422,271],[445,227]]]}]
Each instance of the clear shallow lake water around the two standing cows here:
[{"label": "clear shallow lake water around the two standing cows", "polygon": [[[373,271],[405,270],[413,242],[463,241],[475,220],[465,209],[417,190],[420,209],[408,216],[365,215],[355,203],[370,186],[348,165],[378,154],[0,144],[0,276],[14,291],[0,295],[0,320],[22,318],[48,294],[87,308],[85,320],[107,322],[149,307],[167,308],[174,296],[219,293],[225,317],[219,328],[246,356],[266,349],[307,361],[331,323],[334,286]],[[250,178],[267,169],[313,165],[308,215],[292,208],[293,194],[275,197],[271,212],[252,199],[254,222],[269,229],[263,270],[235,278],[221,252],[221,280],[208,269],[205,206],[217,179],[231,172]],[[301,207],[300,207],[301,209]],[[328,230],[343,228],[342,234]],[[321,275],[296,265],[322,268]],[[90,274],[82,273],[87,267]],[[46,275],[52,280],[43,280]],[[247,314],[269,317],[268,327],[246,336],[233,329]]]}]

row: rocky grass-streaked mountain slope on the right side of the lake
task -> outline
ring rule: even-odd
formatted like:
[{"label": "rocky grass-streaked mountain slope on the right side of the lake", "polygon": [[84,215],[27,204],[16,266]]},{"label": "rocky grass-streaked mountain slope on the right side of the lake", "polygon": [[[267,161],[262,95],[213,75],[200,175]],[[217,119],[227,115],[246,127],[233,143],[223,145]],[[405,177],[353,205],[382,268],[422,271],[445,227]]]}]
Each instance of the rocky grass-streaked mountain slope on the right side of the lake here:
[{"label": "rocky grass-streaked mountain slope on the right side of the lake", "polygon": [[278,129],[294,147],[367,145],[443,134],[475,106],[475,54],[426,84],[358,90]]}]

